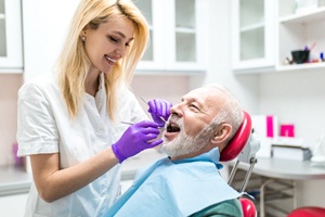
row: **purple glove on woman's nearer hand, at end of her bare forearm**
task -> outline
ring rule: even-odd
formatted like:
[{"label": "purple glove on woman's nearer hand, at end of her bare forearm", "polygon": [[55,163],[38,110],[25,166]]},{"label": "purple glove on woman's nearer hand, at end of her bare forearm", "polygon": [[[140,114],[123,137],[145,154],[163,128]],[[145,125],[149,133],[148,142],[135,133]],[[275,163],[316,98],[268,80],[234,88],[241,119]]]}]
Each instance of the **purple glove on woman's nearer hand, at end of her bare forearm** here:
[{"label": "purple glove on woman's nearer hand, at end of her bare forearm", "polygon": [[160,144],[161,139],[154,140],[159,132],[158,125],[154,122],[143,120],[136,123],[131,125],[116,143],[112,144],[112,150],[119,163],[122,163],[126,158],[145,149]]}]

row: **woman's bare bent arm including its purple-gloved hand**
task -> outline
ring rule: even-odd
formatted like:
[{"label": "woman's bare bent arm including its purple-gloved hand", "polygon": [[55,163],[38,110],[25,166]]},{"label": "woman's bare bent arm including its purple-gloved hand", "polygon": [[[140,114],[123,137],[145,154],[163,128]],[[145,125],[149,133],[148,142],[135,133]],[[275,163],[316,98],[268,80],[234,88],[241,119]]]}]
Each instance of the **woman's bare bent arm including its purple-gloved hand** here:
[{"label": "woman's bare bent arm including its purple-gloved hand", "polygon": [[47,202],[68,195],[139,152],[162,142],[157,139],[158,125],[143,120],[131,125],[112,146],[69,168],[60,168],[60,154],[31,155],[30,163],[36,188]]}]

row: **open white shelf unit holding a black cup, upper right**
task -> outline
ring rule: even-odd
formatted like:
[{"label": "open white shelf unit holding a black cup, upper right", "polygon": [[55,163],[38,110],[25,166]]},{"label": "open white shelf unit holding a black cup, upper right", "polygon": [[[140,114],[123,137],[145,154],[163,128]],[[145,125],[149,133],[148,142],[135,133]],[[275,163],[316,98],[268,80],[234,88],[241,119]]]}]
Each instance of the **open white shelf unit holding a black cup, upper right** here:
[{"label": "open white shelf unit holding a black cup, upper right", "polygon": [[[325,67],[321,60],[321,53],[325,54],[325,5],[304,2],[315,3],[299,9],[295,0],[277,1],[277,71]],[[284,63],[286,58],[291,59],[291,51],[304,49],[310,49],[309,63]]]}]

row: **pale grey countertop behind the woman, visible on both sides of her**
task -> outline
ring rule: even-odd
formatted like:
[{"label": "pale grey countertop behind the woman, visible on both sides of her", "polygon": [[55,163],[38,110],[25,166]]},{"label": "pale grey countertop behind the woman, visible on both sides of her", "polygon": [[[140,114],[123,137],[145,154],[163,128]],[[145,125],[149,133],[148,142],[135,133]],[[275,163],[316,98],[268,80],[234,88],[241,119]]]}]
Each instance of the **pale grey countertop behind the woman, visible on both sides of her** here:
[{"label": "pale grey countertop behind the woman, visible on both sides of her", "polygon": [[[132,180],[139,168],[164,156],[165,154],[153,149],[126,159],[121,166],[121,180]],[[0,196],[28,193],[31,179],[25,167],[0,166]]]}]

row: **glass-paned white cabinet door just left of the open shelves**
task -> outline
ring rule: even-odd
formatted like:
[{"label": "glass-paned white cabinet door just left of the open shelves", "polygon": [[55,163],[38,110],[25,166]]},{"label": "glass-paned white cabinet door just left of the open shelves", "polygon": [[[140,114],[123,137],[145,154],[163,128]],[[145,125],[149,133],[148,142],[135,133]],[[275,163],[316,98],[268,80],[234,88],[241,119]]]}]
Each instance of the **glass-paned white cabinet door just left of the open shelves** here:
[{"label": "glass-paned white cabinet door just left of the open shelves", "polygon": [[233,0],[233,68],[274,68],[273,0]]}]

